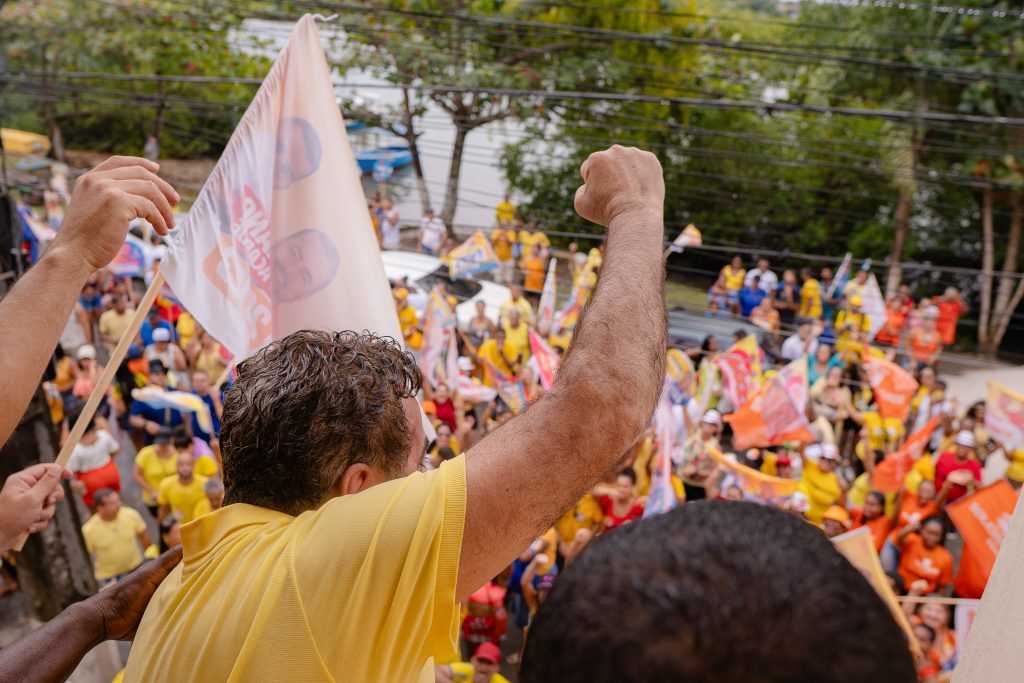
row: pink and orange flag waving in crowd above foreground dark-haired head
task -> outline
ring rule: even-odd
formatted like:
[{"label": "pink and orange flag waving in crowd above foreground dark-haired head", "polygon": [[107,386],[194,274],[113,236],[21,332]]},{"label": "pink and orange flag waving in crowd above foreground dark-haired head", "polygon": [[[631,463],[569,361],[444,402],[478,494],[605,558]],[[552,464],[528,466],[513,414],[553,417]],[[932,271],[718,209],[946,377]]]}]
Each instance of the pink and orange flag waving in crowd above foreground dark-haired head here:
[{"label": "pink and orange flag waving in crowd above foreground dark-haired head", "polygon": [[732,426],[732,442],[738,450],[774,445],[785,441],[808,443],[807,358],[800,357],[761,386],[751,400],[725,417]]}]

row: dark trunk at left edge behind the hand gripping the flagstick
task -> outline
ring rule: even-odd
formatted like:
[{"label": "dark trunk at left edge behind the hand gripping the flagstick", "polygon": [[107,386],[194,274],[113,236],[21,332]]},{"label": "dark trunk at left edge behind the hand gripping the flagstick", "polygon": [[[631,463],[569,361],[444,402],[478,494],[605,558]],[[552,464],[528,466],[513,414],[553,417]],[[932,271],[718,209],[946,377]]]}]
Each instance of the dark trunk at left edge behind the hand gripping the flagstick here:
[{"label": "dark trunk at left edge behind the hand gripping the flagstick", "polygon": [[[0,450],[0,480],[39,462],[53,462],[56,434],[42,390],[36,392],[17,429]],[[68,605],[96,592],[92,561],[82,539],[77,502],[65,483],[65,502],[53,521],[29,537],[17,553],[17,583],[33,615],[46,621]]]}]

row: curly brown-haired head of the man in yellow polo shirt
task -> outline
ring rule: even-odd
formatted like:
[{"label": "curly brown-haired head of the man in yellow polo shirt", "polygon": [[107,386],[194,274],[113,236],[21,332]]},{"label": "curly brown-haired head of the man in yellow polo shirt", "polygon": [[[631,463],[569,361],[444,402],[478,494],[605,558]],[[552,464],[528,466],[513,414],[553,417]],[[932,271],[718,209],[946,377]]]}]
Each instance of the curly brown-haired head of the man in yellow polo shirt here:
[{"label": "curly brown-haired head of the man in yellow polo shirt", "polygon": [[224,505],[297,515],[350,465],[397,472],[411,438],[402,399],[420,381],[412,355],[369,332],[300,330],[263,347],[224,397]]}]

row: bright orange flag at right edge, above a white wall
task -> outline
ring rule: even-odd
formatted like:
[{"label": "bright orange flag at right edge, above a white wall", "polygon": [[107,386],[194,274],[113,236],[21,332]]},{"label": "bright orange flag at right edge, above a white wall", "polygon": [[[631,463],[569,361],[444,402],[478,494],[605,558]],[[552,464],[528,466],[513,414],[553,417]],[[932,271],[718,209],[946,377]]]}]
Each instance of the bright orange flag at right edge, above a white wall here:
[{"label": "bright orange flag at right edge, above a white wall", "polygon": [[946,513],[964,537],[956,595],[981,597],[1016,505],[1017,492],[1006,479],[1000,479],[946,506]]}]

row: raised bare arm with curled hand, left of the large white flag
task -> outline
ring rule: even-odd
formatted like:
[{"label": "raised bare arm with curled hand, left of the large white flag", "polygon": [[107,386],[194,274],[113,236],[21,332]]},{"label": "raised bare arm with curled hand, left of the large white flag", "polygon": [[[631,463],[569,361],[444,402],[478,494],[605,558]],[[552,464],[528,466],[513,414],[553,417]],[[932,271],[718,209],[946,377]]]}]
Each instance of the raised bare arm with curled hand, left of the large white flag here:
[{"label": "raised bare arm with curled hand, left of the large white flag", "polygon": [[82,286],[118,253],[129,221],[144,218],[161,234],[173,226],[178,196],[159,168],[112,157],[79,178],[53,244],[0,301],[0,444],[36,391]]}]

